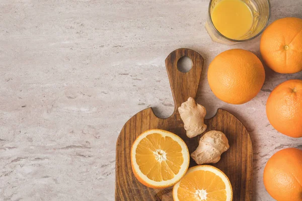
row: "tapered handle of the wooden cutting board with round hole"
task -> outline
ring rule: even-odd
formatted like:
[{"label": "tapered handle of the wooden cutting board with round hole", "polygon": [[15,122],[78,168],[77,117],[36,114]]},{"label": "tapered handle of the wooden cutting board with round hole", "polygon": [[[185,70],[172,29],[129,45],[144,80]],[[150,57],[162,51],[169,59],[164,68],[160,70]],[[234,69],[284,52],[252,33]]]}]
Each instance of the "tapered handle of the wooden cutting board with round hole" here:
[{"label": "tapered handle of the wooden cutting board with round hole", "polygon": [[[192,61],[192,68],[188,72],[181,72],[177,68],[177,62],[183,56],[188,56]],[[174,98],[174,114],[178,113],[178,107],[189,97],[196,98],[202,66],[202,56],[186,48],[174,50],[166,58],[166,68]]]}]

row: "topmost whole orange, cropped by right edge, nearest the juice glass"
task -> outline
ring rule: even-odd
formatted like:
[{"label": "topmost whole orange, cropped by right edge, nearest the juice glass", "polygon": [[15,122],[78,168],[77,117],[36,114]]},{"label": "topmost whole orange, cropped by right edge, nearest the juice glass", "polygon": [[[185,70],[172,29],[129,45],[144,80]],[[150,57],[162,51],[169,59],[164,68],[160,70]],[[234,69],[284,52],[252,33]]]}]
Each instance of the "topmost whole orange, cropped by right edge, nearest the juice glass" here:
[{"label": "topmost whole orange, cropped by right edge, nearest the juice glass", "polygon": [[302,19],[282,18],[263,32],[260,52],[265,63],[279,73],[302,70]]}]

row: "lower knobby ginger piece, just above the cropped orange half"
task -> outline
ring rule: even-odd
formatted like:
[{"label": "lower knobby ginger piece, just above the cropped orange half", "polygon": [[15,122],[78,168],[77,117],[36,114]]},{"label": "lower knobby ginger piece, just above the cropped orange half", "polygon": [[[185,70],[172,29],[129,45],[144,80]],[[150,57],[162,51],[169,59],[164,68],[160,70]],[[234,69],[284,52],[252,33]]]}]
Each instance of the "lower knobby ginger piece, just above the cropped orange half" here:
[{"label": "lower knobby ginger piece, just above the cropped orange half", "polygon": [[229,141],[222,132],[209,131],[200,138],[199,145],[191,157],[198,165],[216,163],[220,160],[220,155],[229,148]]}]

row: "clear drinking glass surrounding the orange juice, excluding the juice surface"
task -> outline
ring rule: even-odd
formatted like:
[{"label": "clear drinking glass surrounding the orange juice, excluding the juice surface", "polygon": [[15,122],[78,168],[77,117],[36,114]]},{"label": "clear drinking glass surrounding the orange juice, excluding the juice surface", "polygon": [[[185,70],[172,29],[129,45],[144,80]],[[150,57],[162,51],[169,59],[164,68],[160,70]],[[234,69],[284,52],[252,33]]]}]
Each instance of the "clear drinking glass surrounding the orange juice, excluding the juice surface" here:
[{"label": "clear drinking glass surrounding the orange juice, excluding the juice surface", "polygon": [[221,0],[210,1],[209,9],[208,9],[208,17],[205,23],[205,28],[213,41],[226,45],[234,45],[236,43],[252,40],[257,36],[259,36],[268,25],[270,14],[271,14],[271,6],[269,0],[241,0],[250,8],[253,14],[252,27],[250,31],[248,31],[245,35],[243,35],[242,37],[236,40],[223,36],[215,28],[211,19],[211,13],[213,11],[213,8],[220,1]]}]

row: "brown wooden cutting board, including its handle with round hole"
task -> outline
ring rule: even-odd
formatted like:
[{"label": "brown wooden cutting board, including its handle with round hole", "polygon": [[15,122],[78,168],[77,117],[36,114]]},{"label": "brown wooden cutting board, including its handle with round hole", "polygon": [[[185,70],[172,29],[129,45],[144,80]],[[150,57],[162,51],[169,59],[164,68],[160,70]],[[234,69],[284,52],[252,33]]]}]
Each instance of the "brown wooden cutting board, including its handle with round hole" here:
[{"label": "brown wooden cutting board, including its handle with round hole", "polygon": [[[192,60],[192,68],[186,73],[177,69],[177,61],[183,56]],[[189,97],[196,97],[202,66],[202,56],[190,49],[177,49],[167,57],[166,68],[174,98],[174,113],[167,119],[161,119],[154,115],[152,108],[147,108],[124,125],[116,142],[115,200],[173,200],[172,187],[148,188],[135,178],[130,164],[130,149],[135,138],[148,129],[175,133],[186,142],[190,153],[196,149],[202,135],[191,139],[186,136],[177,109]],[[233,200],[252,200],[253,148],[247,129],[234,115],[222,109],[218,109],[211,119],[205,120],[205,124],[206,132],[222,131],[230,144],[230,149],[221,155],[220,161],[210,165],[219,168],[229,177],[233,187]],[[195,165],[190,158],[190,167]]]}]

